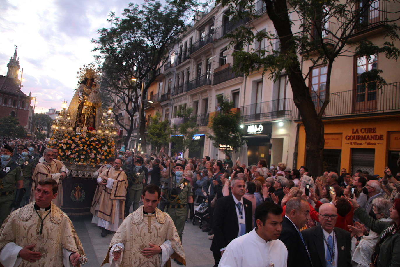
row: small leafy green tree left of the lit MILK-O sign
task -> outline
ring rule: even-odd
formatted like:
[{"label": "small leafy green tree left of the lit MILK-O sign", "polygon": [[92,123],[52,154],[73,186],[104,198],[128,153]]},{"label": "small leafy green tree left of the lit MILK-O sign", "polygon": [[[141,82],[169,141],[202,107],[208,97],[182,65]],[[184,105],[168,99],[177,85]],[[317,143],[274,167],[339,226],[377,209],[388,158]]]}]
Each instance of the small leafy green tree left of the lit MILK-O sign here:
[{"label": "small leafy green tree left of the lit MILK-O sign", "polygon": [[211,129],[213,135],[208,135],[213,141],[213,145],[219,148],[223,145],[225,155],[238,151],[243,145],[243,130],[240,128],[240,112],[233,110],[233,102],[225,100],[221,95],[217,96],[217,102],[220,104],[220,112],[216,112],[212,117]]}]

